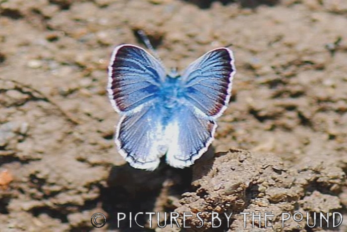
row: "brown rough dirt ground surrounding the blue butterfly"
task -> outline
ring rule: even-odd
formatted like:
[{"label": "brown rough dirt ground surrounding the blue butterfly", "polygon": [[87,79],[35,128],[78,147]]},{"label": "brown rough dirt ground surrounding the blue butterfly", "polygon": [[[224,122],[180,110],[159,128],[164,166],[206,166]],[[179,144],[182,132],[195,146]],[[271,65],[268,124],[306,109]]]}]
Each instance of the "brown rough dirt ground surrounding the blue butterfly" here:
[{"label": "brown rough dirt ground surrounding the blue butterfly", "polygon": [[[328,211],[347,231],[346,28],[346,0],[0,0],[0,231],[178,231],[117,227],[117,212],[172,211],[207,212],[185,231],[332,231],[306,225]],[[234,51],[230,105],[191,168],[117,153],[106,69],[116,45],[143,46],[139,29],[179,70]],[[212,211],[231,224],[213,229]],[[273,228],[240,212],[272,212]]]}]

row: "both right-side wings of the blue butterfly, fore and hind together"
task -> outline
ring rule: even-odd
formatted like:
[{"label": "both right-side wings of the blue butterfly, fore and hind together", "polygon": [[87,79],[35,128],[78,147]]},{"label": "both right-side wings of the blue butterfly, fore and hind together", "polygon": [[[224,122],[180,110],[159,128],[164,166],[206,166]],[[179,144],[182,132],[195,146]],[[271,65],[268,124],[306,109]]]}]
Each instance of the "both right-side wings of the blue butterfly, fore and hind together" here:
[{"label": "both right-side wings of the blue butterfly, fore and hind together", "polygon": [[171,166],[190,166],[208,149],[214,139],[216,118],[229,103],[234,73],[232,51],[221,47],[201,56],[182,74],[185,104],[172,122],[175,142],[167,153]]}]

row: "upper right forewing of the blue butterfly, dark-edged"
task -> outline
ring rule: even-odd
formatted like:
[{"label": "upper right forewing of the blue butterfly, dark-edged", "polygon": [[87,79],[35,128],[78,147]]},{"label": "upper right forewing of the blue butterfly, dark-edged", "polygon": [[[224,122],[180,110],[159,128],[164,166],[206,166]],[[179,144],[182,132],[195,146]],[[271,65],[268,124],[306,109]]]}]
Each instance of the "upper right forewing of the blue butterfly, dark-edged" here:
[{"label": "upper right forewing of the blue butterfly, dark-edged", "polygon": [[230,49],[222,47],[207,52],[182,75],[186,99],[206,115],[219,117],[229,103],[234,73]]}]

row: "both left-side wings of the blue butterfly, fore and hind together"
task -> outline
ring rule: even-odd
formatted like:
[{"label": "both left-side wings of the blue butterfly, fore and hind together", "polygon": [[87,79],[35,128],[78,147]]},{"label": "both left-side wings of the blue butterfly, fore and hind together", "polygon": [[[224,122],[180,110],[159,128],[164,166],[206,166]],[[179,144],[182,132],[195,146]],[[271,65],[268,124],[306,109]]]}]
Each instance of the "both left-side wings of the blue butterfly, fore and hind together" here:
[{"label": "both left-side wings of the blue butterfly, fore and hind together", "polygon": [[162,64],[143,48],[115,48],[108,84],[111,103],[122,115],[115,141],[121,156],[135,168],[153,170],[165,154],[159,150],[163,129],[153,109],[165,77]]}]

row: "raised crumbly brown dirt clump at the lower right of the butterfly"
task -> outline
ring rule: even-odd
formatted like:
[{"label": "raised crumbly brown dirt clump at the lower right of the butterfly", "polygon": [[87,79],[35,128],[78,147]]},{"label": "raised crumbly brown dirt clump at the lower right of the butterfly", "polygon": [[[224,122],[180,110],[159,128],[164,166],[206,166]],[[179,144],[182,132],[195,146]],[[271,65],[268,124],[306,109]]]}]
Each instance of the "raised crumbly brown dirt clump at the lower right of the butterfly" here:
[{"label": "raised crumbly brown dirt clump at the lower right of the butterfly", "polygon": [[[265,228],[265,212],[271,212],[267,231],[295,231],[297,228],[309,230],[306,214],[341,212],[343,204],[339,198],[346,185],[346,175],[342,169],[326,166],[322,162],[310,162],[296,168],[289,168],[284,162],[268,154],[252,153],[247,150],[231,149],[216,154],[216,158],[199,162],[193,168],[193,192],[186,192],[179,200],[175,211],[181,218],[184,212],[192,212],[185,226],[200,227],[199,231],[212,229],[212,212],[222,219],[224,230],[239,228],[251,230]],[[241,212],[248,212],[244,225]],[[261,214],[252,222],[251,213]],[[293,215],[301,212],[305,218],[301,222],[288,220],[282,225],[282,213]],[[230,218],[228,227],[227,218]],[[286,216],[287,218],[287,216]],[[313,225],[313,218],[309,218]],[[215,225],[219,225],[216,220]],[[182,225],[181,225],[182,226]],[[344,229],[341,229],[344,230]]]}]

